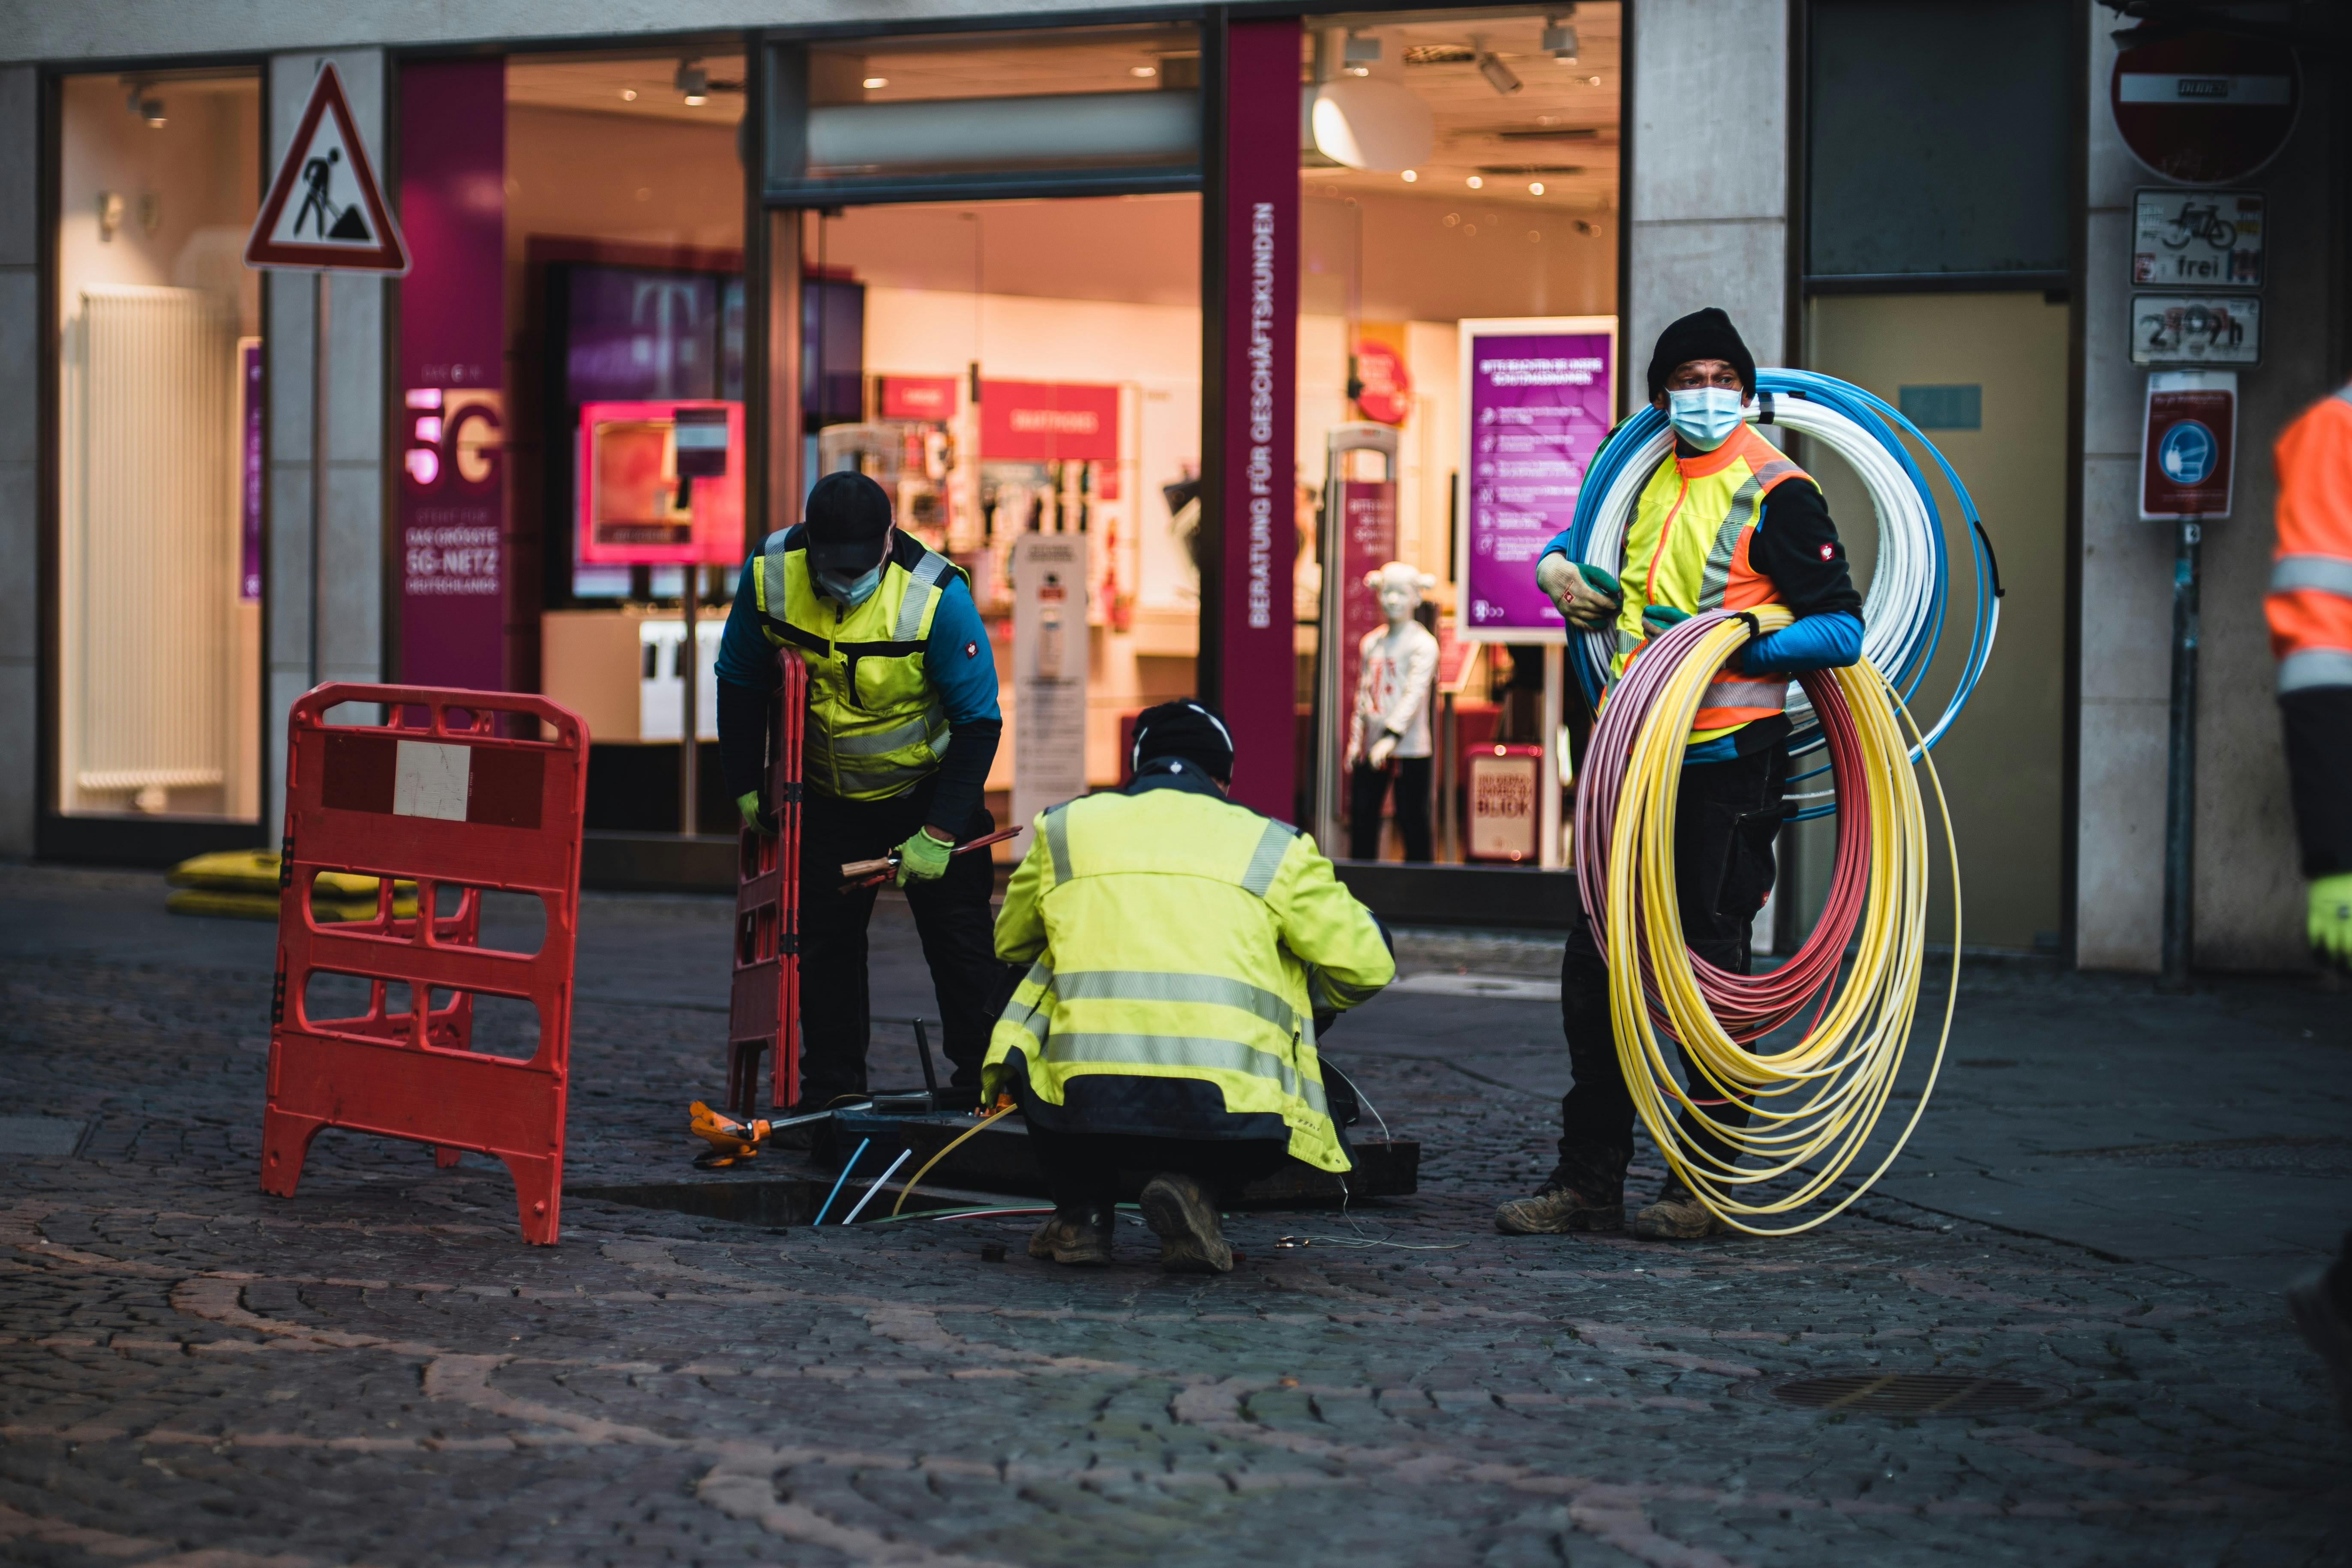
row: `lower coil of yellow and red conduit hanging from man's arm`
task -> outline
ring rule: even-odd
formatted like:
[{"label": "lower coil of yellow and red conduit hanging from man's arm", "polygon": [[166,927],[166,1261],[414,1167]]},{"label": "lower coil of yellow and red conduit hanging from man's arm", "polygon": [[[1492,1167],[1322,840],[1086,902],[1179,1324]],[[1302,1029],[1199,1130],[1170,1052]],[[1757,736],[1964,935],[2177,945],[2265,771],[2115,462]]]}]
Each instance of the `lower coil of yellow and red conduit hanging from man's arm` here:
[{"label": "lower coil of yellow and red conduit hanging from man's arm", "polygon": [[[1755,614],[1766,630],[1790,623],[1783,607]],[[1745,639],[1738,618],[1710,611],[1656,637],[1630,665],[1592,731],[1576,802],[1576,870],[1606,954],[1611,1032],[1642,1124],[1712,1213],[1743,1232],[1780,1237],[1820,1225],[1867,1192],[1919,1126],[1959,999],[1959,856],[1936,764],[1922,759],[1952,877],[1952,985],[1936,1063],[1910,1121],[1858,1185],[1816,1213],[1766,1225],[1813,1206],[1846,1178],[1903,1067],[1926,950],[1926,816],[1898,715],[1912,741],[1919,729],[1893,686],[1867,661],[1806,675],[1844,806],[1830,907],[1804,950],[1769,976],[1738,976],[1691,954],[1675,889],[1682,755],[1708,682]],[[1849,938],[1853,959],[1839,973]],[[1795,1023],[1809,1001],[1818,1004],[1795,1044],[1750,1048]],[[1661,1032],[1679,1041],[1677,1056],[1686,1053],[1689,1086],[1677,1084]],[[1748,1126],[1708,1124],[1731,1159],[1684,1138],[1677,1112],[1696,1112],[1693,1098],[1750,1100]]]}]

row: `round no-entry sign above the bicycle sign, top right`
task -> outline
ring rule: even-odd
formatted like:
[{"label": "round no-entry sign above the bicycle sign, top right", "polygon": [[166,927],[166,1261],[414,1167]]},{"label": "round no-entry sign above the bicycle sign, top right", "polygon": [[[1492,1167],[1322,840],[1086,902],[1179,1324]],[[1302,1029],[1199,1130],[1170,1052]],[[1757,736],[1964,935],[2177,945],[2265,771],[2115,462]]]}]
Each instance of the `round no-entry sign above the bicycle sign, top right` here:
[{"label": "round no-entry sign above the bicycle sign, top right", "polygon": [[2124,49],[2107,85],[2124,146],[2183,186],[2220,186],[2277,158],[2300,96],[2286,45],[2201,31]]}]

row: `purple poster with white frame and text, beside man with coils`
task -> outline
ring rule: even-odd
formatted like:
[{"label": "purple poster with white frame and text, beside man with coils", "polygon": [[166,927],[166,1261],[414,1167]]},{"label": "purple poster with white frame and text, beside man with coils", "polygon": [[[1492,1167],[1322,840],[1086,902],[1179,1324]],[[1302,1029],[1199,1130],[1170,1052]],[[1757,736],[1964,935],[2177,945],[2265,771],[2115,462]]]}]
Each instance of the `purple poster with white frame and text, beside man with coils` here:
[{"label": "purple poster with white frame and text, beside man with coils", "polygon": [[1536,588],[1536,557],[1576,515],[1576,491],[1616,407],[1616,317],[1564,315],[1461,324],[1465,642],[1564,642]]}]

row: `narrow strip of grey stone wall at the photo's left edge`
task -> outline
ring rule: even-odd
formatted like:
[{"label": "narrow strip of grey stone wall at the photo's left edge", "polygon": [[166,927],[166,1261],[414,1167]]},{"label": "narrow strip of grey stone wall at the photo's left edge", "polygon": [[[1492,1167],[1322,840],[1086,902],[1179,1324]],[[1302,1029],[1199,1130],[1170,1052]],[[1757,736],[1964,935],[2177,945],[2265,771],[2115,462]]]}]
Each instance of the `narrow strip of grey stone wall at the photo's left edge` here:
[{"label": "narrow strip of grey stone wall at the photo's left edge", "polygon": [[0,71],[0,856],[33,853],[40,799],[40,82]]}]

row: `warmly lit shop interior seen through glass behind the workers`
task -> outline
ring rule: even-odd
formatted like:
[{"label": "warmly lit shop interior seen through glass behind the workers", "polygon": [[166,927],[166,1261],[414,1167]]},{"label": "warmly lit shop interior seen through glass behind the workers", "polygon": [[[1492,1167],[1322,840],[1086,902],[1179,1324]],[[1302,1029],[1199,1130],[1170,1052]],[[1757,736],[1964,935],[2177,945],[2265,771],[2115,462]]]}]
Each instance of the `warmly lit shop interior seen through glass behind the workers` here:
[{"label": "warmly lit shop interior seen through glass behind the workers", "polygon": [[[1613,310],[1618,7],[1571,12],[1569,24],[1552,9],[1308,28],[1303,89],[1371,82],[1411,94],[1430,122],[1404,169],[1301,153],[1294,614],[1310,738],[1348,722],[1345,710],[1319,712],[1315,679],[1331,430],[1395,430],[1395,559],[1435,581],[1423,621],[1444,635],[1458,545],[1456,322]],[[969,40],[842,49],[811,66],[811,96],[1197,82],[1190,31],[995,40],[983,71],[969,54]],[[539,494],[517,480],[515,503],[541,512],[541,686],[597,736],[597,827],[675,830],[687,567],[583,559],[567,477],[581,473],[583,409],[597,402],[741,397],[741,80],[743,61],[724,56],[506,66],[508,369],[539,444],[517,475],[541,475]],[[842,205],[804,209],[797,226],[802,473],[875,475],[901,524],[971,574],[1004,675],[993,809],[1007,816],[1016,771],[1011,550],[1030,531],[1087,538],[1084,776],[1117,783],[1124,722],[1195,689],[1200,197]],[[616,324],[619,310],[633,320]],[[706,832],[731,816],[713,783],[708,663],[734,574],[710,564],[694,578]],[[1536,741],[1534,663],[1498,646],[1451,661],[1456,757],[1496,738]],[[1442,837],[1437,858],[1463,853],[1463,835]]]}]

